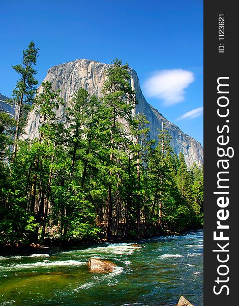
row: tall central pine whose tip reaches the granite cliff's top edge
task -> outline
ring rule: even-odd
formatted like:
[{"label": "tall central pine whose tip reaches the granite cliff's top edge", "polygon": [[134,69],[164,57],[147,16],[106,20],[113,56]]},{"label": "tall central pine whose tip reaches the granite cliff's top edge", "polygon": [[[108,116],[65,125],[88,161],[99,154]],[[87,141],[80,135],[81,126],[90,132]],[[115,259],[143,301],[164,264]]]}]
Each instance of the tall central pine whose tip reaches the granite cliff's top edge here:
[{"label": "tall central pine whose tip reaches the granite cliff's top edge", "polygon": [[126,135],[126,129],[119,120],[129,124],[132,118],[132,109],[136,104],[135,92],[132,90],[128,64],[115,59],[113,65],[106,72],[107,80],[103,86],[103,105],[108,109],[110,131],[110,167],[108,180],[108,206],[107,206],[107,239],[112,234],[113,175],[117,172],[116,151],[119,143]]}]

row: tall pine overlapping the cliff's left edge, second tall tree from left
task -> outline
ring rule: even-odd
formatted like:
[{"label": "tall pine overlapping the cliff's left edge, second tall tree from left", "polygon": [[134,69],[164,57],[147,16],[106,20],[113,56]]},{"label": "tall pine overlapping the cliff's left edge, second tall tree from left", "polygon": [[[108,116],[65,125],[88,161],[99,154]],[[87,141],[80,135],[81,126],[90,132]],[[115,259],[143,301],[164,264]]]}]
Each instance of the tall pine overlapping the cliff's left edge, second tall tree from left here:
[{"label": "tall pine overlapping the cliff's left edge, second tall tree from left", "polygon": [[[34,214],[36,213],[37,221],[40,220],[40,215],[44,214],[42,239],[44,239],[45,228],[47,222],[47,215],[49,210],[49,197],[50,188],[52,180],[53,162],[55,158],[55,146],[56,140],[55,136],[52,134],[52,129],[54,124],[51,124],[52,119],[55,118],[55,110],[58,109],[59,104],[64,104],[63,99],[59,96],[59,91],[55,92],[52,90],[51,84],[46,81],[42,82],[42,91],[36,95],[35,98],[35,111],[39,114],[39,139],[35,141],[36,145],[36,155],[33,163],[33,179],[31,196],[29,197],[30,205],[29,210]],[[48,124],[47,124],[48,123]],[[52,150],[49,141],[47,141],[48,134],[52,135]],[[42,170],[44,159],[50,160],[49,171],[47,171],[46,183],[42,180]],[[39,180],[39,194],[37,198],[37,182]]]}]

